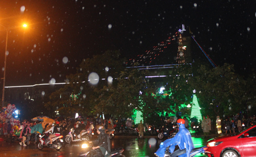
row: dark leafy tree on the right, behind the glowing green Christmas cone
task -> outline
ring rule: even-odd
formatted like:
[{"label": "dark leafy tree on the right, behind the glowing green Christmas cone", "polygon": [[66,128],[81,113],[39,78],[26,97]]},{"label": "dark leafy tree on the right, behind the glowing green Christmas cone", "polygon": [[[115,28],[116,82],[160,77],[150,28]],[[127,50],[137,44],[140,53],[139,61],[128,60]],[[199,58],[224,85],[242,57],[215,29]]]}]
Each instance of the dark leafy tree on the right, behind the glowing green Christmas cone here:
[{"label": "dark leafy tree on the right, behind the glowing green Christmas cone", "polygon": [[229,115],[243,109],[246,81],[235,73],[234,65],[225,63],[213,69],[201,65],[189,84],[196,90],[204,114]]}]

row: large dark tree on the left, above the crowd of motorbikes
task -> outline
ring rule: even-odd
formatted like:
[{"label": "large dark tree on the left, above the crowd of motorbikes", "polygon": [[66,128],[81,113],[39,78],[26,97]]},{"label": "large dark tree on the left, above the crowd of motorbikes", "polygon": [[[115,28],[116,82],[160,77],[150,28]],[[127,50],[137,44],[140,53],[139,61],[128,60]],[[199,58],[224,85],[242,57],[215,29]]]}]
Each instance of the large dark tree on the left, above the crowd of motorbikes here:
[{"label": "large dark tree on the left, above the crowd of motorbikes", "polygon": [[[53,113],[58,110],[61,115],[74,116],[93,115],[97,111],[97,98],[101,96],[97,90],[109,86],[108,80],[118,77],[123,69],[123,59],[119,59],[119,51],[106,51],[103,55],[93,56],[92,59],[84,59],[74,75],[67,76],[67,84],[64,88],[51,94],[50,101],[45,105]],[[92,79],[88,82],[91,75]],[[97,78],[96,78],[97,77]],[[112,78],[112,79],[111,79]],[[90,84],[98,79],[96,84]],[[115,81],[113,81],[115,84]]]}]

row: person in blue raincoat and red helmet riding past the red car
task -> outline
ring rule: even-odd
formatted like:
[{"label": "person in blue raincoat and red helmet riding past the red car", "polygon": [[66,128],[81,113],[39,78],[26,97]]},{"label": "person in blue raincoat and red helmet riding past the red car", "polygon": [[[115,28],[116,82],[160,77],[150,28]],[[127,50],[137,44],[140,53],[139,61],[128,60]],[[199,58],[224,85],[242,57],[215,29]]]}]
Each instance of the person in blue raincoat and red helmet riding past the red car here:
[{"label": "person in blue raincoat and red helmet riding past the red car", "polygon": [[174,138],[167,139],[160,144],[160,148],[156,151],[157,156],[163,157],[168,146],[170,146],[169,151],[174,152],[175,146],[178,145],[179,150],[174,152],[176,155],[172,155],[179,157],[189,157],[191,150],[195,148],[191,139],[191,134],[185,128],[185,120],[178,119],[177,124],[179,125],[179,132],[175,135]]}]

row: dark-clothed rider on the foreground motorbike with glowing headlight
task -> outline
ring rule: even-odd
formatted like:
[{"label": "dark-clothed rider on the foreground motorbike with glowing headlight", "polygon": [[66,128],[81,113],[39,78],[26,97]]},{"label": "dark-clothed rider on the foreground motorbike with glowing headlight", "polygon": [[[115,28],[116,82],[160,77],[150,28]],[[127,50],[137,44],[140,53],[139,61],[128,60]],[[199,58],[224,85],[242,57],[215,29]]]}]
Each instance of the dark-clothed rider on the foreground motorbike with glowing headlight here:
[{"label": "dark-clothed rider on the foreground motorbike with glowing headlight", "polygon": [[[101,152],[104,157],[110,156],[110,139],[108,135],[105,133],[105,128],[102,125],[98,125],[96,127],[98,138],[95,141],[89,141],[89,143],[93,143],[95,147],[92,147],[93,150]],[[99,149],[97,149],[99,148]]]}]

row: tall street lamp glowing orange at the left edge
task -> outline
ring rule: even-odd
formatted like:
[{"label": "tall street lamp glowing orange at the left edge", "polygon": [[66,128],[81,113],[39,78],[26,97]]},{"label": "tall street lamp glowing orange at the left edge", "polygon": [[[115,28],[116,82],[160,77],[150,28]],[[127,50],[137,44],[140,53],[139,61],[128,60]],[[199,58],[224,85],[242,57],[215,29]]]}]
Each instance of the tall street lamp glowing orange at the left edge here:
[{"label": "tall street lamp glowing orange at the left edge", "polygon": [[[3,28],[6,30],[6,42],[5,42],[5,67],[3,68],[3,95],[2,95],[2,107],[5,105],[5,76],[6,76],[6,57],[9,52],[7,52],[7,43],[8,43],[8,33],[11,29],[17,28],[17,27],[5,27],[2,24],[0,24]],[[23,27],[27,27],[27,24],[23,24]]]}]

